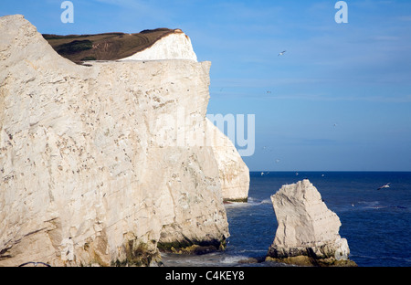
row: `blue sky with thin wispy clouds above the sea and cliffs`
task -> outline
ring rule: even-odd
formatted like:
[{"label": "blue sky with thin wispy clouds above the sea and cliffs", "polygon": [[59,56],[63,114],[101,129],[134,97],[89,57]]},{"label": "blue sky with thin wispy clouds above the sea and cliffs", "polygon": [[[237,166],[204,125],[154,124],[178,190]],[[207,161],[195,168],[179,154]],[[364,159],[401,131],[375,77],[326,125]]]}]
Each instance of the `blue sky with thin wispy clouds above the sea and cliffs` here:
[{"label": "blue sky with thin wispy clouds above the sea and cliffs", "polygon": [[[182,28],[210,60],[208,113],[255,114],[252,171],[411,171],[411,1],[2,1],[60,35]],[[287,50],[278,57],[279,51]]]}]

